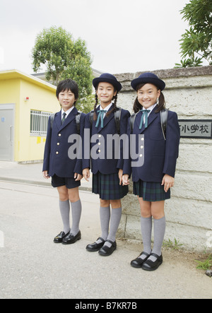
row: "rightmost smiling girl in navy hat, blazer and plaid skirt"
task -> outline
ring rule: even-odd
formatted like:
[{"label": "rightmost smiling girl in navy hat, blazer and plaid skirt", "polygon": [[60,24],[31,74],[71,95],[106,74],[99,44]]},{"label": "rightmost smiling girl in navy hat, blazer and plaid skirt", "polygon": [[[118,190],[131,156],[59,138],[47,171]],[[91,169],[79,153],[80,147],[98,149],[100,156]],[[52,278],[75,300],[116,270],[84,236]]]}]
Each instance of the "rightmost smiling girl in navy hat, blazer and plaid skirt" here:
[{"label": "rightmost smiling girl in navy hat, blazer and plaid skirt", "polygon": [[[155,271],[163,263],[161,248],[165,235],[165,200],[170,199],[174,186],[175,167],[179,149],[179,124],[177,114],[168,111],[166,136],[160,124],[160,111],[165,109],[162,90],[165,83],[153,73],[143,73],[131,81],[137,92],[134,102],[134,127],[132,133],[139,139],[143,152],[143,166],[131,167],[131,160],[124,160],[123,184],[129,184],[132,172],[134,194],[141,207],[141,234],[143,252],[131,261],[131,266]],[[132,127],[129,126],[128,134]],[[144,139],[144,140],[143,140]],[[154,220],[154,245],[151,249],[152,222]]]}]

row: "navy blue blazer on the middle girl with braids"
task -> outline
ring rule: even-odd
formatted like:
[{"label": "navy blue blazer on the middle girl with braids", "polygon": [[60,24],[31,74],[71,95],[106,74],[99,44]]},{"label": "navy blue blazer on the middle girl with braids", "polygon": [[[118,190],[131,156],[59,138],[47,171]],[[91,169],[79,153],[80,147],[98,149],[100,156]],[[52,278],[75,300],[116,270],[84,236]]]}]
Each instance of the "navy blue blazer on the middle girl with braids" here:
[{"label": "navy blue blazer on the middle girl with braids", "polygon": [[[110,110],[114,105],[110,107]],[[109,110],[109,111],[110,111]],[[95,111],[96,114],[98,109]],[[90,138],[93,137],[93,143],[90,143],[90,146],[87,145],[85,148],[86,136],[83,141],[83,150],[85,152],[83,158],[83,169],[91,168],[93,174],[96,174],[98,171],[102,174],[114,174],[119,172],[119,169],[123,168],[123,144],[122,141],[119,144],[119,135],[117,134],[117,128],[114,120],[114,112],[112,112],[109,117],[104,118],[104,125],[101,128],[101,122],[99,123],[98,127],[95,127],[96,121],[93,121],[90,124],[89,120],[90,113],[86,115],[85,119],[85,132],[90,131]],[[126,134],[127,131],[127,121],[130,117],[130,113],[127,110],[122,109],[121,118],[120,118],[120,136],[122,134]],[[107,142],[107,135],[112,137],[113,135],[117,134],[117,141],[110,141]],[[88,140],[87,140],[88,141]],[[88,153],[88,148],[90,149],[90,153]],[[119,152],[119,157],[118,153]],[[85,158],[85,155],[87,157]],[[91,158],[88,158],[88,155]],[[94,157],[93,157],[94,156]],[[90,166],[90,159],[91,159],[91,166]]]}]

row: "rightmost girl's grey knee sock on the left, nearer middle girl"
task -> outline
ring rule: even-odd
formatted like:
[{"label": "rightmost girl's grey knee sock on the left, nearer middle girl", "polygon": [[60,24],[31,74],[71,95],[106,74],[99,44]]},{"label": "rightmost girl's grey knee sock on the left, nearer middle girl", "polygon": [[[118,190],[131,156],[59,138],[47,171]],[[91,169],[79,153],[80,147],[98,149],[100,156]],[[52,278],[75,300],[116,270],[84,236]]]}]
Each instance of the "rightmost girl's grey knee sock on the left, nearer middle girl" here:
[{"label": "rightmost girl's grey knee sock on the left, nearer middle girl", "polygon": [[[152,217],[143,218],[141,216],[141,235],[143,240],[143,252],[151,254],[151,237],[152,237]],[[146,255],[139,256],[141,259],[145,259]]]}]

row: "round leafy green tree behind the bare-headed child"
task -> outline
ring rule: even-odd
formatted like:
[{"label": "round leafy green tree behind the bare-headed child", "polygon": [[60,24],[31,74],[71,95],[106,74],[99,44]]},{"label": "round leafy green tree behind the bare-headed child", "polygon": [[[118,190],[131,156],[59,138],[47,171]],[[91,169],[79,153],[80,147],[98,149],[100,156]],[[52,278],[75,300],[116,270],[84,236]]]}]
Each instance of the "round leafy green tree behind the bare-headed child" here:
[{"label": "round leafy green tree behind the bare-headed child", "polygon": [[61,79],[71,78],[78,83],[78,106],[84,112],[91,110],[93,71],[92,58],[86,42],[78,38],[73,40],[71,33],[63,28],[52,26],[37,35],[32,51],[33,71],[46,66],[46,79],[57,85]]}]

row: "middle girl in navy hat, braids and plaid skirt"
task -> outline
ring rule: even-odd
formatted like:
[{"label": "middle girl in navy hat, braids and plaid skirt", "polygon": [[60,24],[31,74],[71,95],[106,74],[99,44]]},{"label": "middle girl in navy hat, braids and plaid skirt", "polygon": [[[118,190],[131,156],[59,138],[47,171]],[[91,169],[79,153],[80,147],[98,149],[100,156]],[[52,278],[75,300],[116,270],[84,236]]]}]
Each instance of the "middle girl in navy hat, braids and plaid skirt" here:
[{"label": "middle girl in navy hat, braids and plaid skirt", "polygon": [[[93,244],[88,244],[89,252],[99,252],[102,256],[109,256],[117,249],[116,233],[122,218],[121,199],[128,193],[128,186],[122,185],[123,147],[120,144],[120,158],[115,158],[113,147],[107,146],[107,135],[117,134],[114,112],[117,111],[117,93],[122,89],[117,78],[109,73],[103,73],[93,79],[95,87],[95,106],[93,122],[90,123],[90,113],[86,116],[85,131],[90,130],[90,136],[95,135],[98,143],[91,143],[91,170],[93,172],[93,188],[95,194],[100,195],[100,224],[102,235]],[[100,100],[100,105],[98,105]],[[119,120],[120,136],[126,134],[129,111],[121,110]],[[92,140],[93,141],[93,140]],[[98,147],[98,148],[96,148]],[[112,151],[111,151],[112,149]],[[93,158],[92,150],[97,151]],[[110,159],[107,159],[110,154]],[[83,158],[83,177],[88,180],[90,173],[90,159]],[[110,212],[110,206],[112,208]],[[109,232],[110,224],[110,232]]]}]

